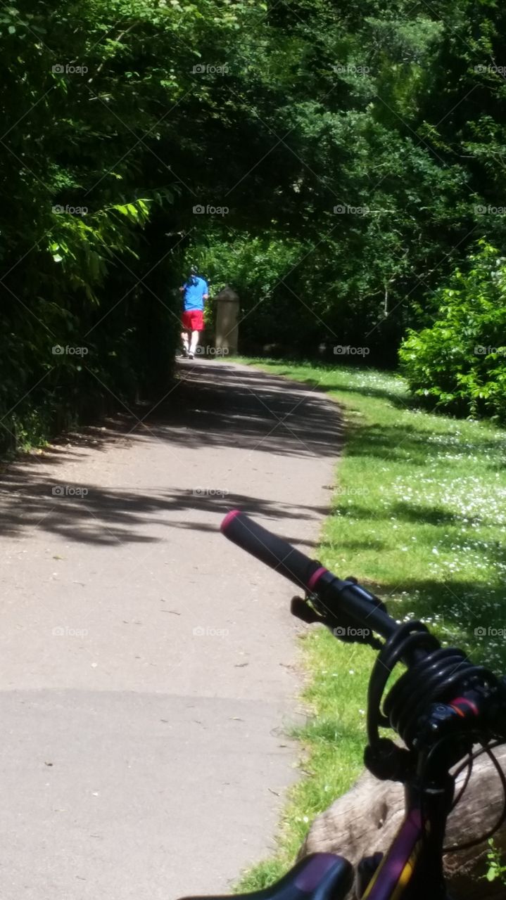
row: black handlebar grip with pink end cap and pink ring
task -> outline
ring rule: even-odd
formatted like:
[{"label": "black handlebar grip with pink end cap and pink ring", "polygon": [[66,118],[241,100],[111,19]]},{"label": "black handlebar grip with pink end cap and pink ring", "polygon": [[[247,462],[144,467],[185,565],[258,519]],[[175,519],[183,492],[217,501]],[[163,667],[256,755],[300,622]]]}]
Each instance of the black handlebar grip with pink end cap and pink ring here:
[{"label": "black handlebar grip with pink end cap and pink ring", "polygon": [[265,563],[305,590],[312,589],[315,572],[325,571],[316,560],[295,550],[283,537],[273,535],[239,509],[232,509],[225,516],[221,522],[221,532],[260,563]]}]

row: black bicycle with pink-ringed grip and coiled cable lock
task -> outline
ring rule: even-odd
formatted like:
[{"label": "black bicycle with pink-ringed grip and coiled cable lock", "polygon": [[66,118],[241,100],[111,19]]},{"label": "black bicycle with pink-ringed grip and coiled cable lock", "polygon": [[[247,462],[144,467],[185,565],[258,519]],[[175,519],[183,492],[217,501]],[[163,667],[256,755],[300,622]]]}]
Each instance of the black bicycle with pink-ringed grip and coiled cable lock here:
[{"label": "black bicycle with pink-ringed grip and coiled cable lock", "polygon": [[[505,804],[487,834],[452,850],[484,841],[506,819],[506,778],[492,752],[506,743],[506,679],[469,662],[460,650],[441,647],[420,621],[398,624],[356,579],[341,581],[239,510],[224,518],[221,531],[304,590],[304,599],[292,600],[295,616],[327,626],[340,640],[378,651],[367,693],[364,761],[376,778],[401,781],[405,794],[402,825],[384,855],[361,860],[355,872],[343,857],[313,853],[272,887],[239,900],[343,900],[354,886],[360,900],[449,900],[442,861],[447,817],[462,798],[480,753],[488,753],[498,772]],[[406,669],[384,698],[386,682],[400,662]],[[403,746],[380,735],[387,727]],[[481,750],[475,752],[478,743]],[[466,767],[464,786],[455,797],[456,778]]]}]

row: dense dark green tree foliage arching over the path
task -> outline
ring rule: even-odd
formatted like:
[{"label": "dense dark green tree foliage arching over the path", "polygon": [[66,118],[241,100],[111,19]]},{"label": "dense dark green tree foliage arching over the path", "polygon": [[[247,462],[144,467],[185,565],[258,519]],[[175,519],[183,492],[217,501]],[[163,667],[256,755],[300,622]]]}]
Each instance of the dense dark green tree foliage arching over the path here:
[{"label": "dense dark green tree foliage arching over the path", "polygon": [[245,346],[395,362],[506,236],[505,30],[480,0],[4,4],[5,443],[164,390],[189,257],[238,283]]}]

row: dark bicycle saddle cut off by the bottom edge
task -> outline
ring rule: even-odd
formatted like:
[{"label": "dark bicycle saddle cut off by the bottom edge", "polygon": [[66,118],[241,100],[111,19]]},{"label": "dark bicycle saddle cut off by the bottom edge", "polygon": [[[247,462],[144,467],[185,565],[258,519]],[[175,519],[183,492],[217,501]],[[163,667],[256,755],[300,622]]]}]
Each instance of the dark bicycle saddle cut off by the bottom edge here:
[{"label": "dark bicycle saddle cut off by the bottom edge", "polygon": [[[353,885],[353,867],[342,856],[312,853],[304,857],[272,887],[233,900],[344,900]],[[231,900],[230,897],[185,897],[184,900]]]}]

